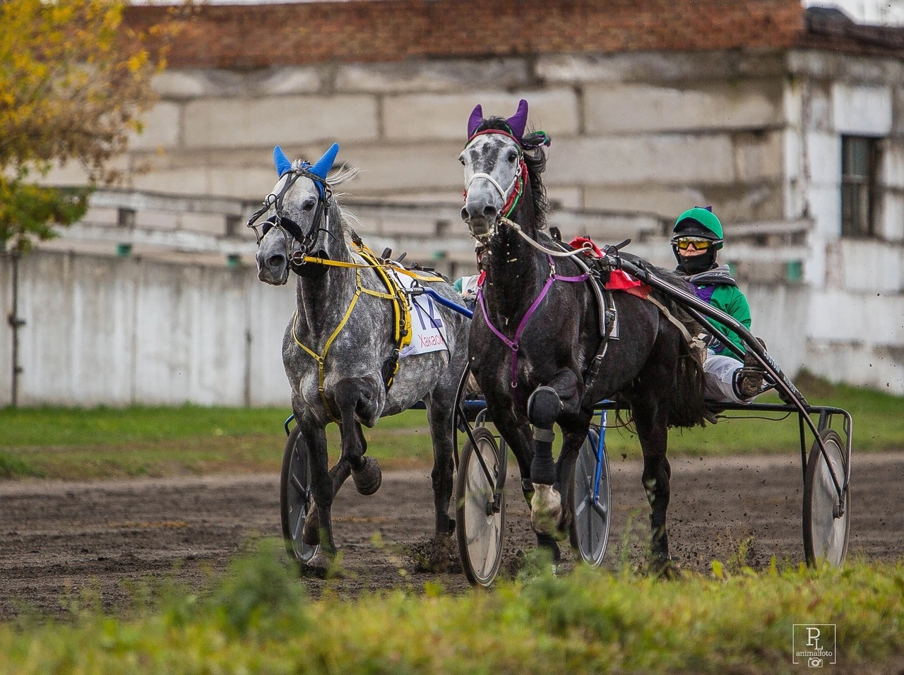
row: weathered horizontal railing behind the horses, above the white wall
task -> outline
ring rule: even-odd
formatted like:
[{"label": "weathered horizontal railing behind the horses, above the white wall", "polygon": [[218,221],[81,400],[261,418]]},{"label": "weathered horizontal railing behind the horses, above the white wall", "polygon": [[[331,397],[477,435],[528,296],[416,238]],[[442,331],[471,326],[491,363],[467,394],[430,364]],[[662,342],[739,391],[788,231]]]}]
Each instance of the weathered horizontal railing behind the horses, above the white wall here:
[{"label": "weathered horizontal railing behind the horses, above the white wall", "polygon": [[[453,202],[390,202],[348,198],[344,205],[356,216],[355,230],[373,249],[407,251],[410,259],[433,260],[452,267],[472,265],[474,244]],[[63,247],[77,242],[82,250],[119,255],[167,254],[178,259],[206,256],[225,264],[254,254],[254,238],[244,227],[259,201],[103,189],[90,198],[85,220],[60,230]],[[103,217],[98,214],[107,211]],[[147,215],[155,214],[148,224]],[[196,222],[200,217],[203,227]],[[206,219],[206,220],[205,220]],[[565,238],[589,235],[601,242],[633,239],[632,250],[650,258],[668,258],[671,220],[652,212],[568,209],[553,204],[548,223]],[[165,226],[161,226],[161,222]],[[731,225],[731,258],[749,262],[796,263],[808,257],[810,220],[735,223]],[[781,246],[775,246],[780,243]],[[764,246],[767,244],[768,246]]]}]

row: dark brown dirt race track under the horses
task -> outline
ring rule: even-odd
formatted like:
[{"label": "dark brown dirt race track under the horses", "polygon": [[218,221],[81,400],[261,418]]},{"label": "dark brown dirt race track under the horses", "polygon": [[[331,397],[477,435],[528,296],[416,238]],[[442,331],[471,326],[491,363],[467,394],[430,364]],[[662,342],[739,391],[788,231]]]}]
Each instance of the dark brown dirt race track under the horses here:
[{"label": "dark brown dirt race track under the horses", "polygon": [[[640,464],[612,462],[612,532],[604,565],[623,557],[640,564],[647,506]],[[804,557],[803,478],[796,456],[673,460],[669,510],[673,556],[685,569],[708,571],[752,538],[750,561]],[[513,487],[518,481],[508,483]],[[904,453],[855,456],[849,558],[904,558]],[[129,580],[172,575],[200,586],[255,537],[277,537],[276,475],[135,480],[103,483],[0,484],[0,619],[25,607],[61,614],[67,594],[99,588],[104,606],[128,604]],[[520,493],[508,495],[504,568],[532,549]],[[631,522],[626,533],[626,524]],[[362,497],[346,483],[334,506],[345,575],[306,577],[312,595],[329,586],[341,595],[366,588],[423,587],[438,581],[466,588],[460,571],[420,573],[406,545],[431,534],[428,473],[386,473],[379,492]],[[379,537],[374,537],[379,533]],[[570,553],[565,564],[572,564]]]}]

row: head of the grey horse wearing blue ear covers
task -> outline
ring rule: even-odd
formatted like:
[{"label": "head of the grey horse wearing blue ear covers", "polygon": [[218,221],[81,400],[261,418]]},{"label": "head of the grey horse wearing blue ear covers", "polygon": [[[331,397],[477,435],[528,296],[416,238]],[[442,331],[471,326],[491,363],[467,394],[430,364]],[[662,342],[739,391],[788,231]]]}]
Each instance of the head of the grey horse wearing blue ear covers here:
[{"label": "head of the grey horse wearing blue ear covers", "polygon": [[305,258],[329,258],[325,239],[329,232],[332,192],[326,173],[332,168],[339,145],[333,144],[315,162],[289,162],[277,145],[273,150],[279,180],[264,200],[264,207],[249,220],[249,227],[261,217],[258,239],[258,278],[268,284],[281,286],[288,273],[322,274],[325,267],[305,267]]}]

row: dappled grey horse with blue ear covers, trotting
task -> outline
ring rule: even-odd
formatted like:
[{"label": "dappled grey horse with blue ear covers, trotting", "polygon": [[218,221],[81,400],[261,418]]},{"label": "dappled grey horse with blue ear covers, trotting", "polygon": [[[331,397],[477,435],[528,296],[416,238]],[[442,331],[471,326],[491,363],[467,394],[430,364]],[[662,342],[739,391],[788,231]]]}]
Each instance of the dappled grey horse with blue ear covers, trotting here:
[{"label": "dappled grey horse with blue ear covers, trotting", "polygon": [[[466,365],[469,320],[434,305],[446,326],[447,350],[404,356],[392,376],[399,346],[393,303],[381,296],[387,295],[387,288],[377,270],[367,267],[372,261],[347,242],[353,234],[350,214],[332,191],[351,180],[357,170],[344,169],[327,178],[337,152],[334,144],[313,165],[293,164],[277,147],[279,180],[265,202],[268,209],[259,212],[268,220],[259,240],[258,278],[279,286],[287,282],[290,269],[297,272],[297,310],[283,339],[283,363],[292,388],[292,410],[311,460],[315,511],[308,514],[302,536],[306,544],[320,544],[326,554],[334,554],[331,506],[335,493],[350,473],[363,494],[376,492],[381,483],[379,465],[364,455],[362,425],[373,427],[380,417],[396,415],[422,400],[433,440],[431,477],[439,561],[454,527],[447,513],[452,494],[452,417]],[[461,302],[455,289],[443,281],[419,283]],[[342,455],[328,471],[325,427],[331,421],[339,424]]]}]

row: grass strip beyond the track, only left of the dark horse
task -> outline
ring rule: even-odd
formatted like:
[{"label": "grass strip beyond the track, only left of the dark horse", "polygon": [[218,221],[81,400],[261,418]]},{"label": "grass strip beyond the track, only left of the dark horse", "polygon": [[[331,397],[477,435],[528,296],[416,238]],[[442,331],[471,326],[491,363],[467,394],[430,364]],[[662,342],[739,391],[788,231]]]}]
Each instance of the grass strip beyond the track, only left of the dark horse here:
[{"label": "grass strip beyond the track, only left of the dark horse", "polygon": [[[0,479],[121,478],[278,472],[286,408],[4,408]],[[339,432],[328,443],[338,456]],[[382,419],[368,430],[368,453],[384,468],[433,461],[422,410]]]}]

